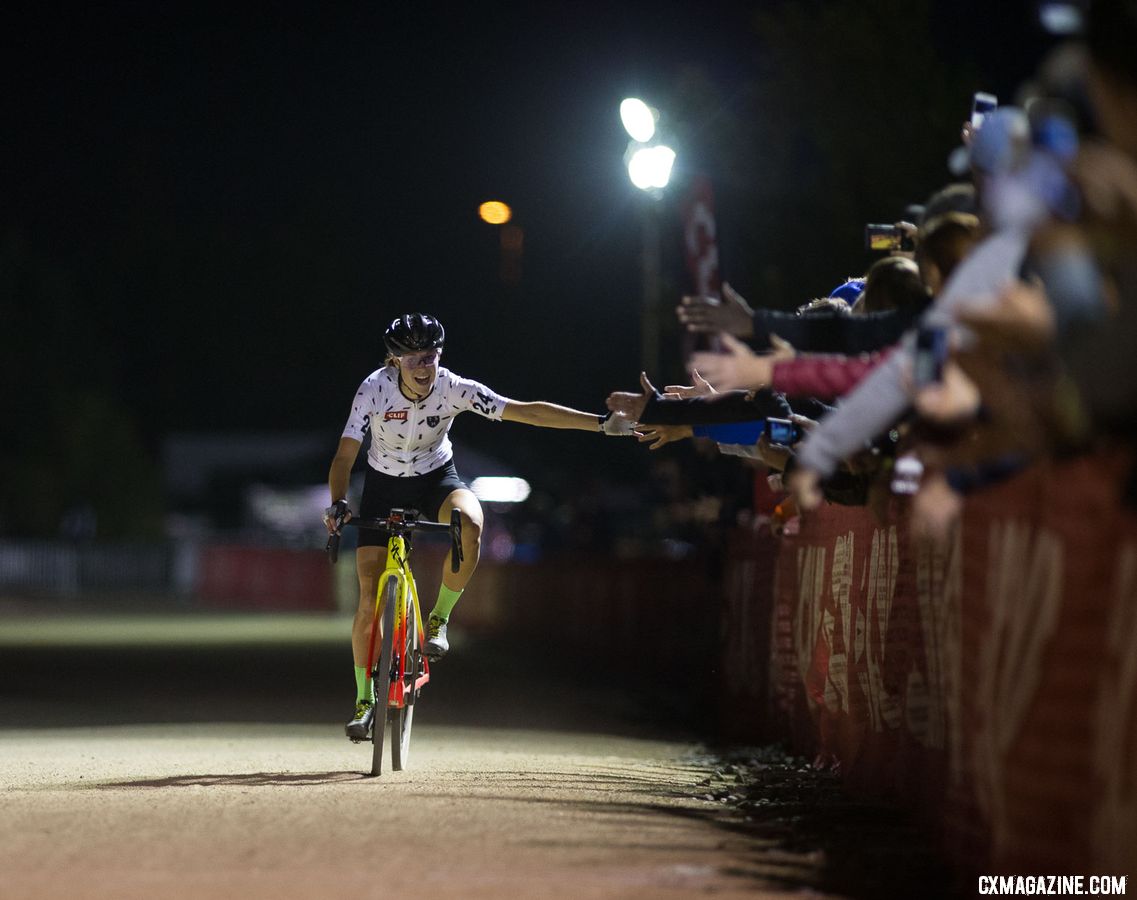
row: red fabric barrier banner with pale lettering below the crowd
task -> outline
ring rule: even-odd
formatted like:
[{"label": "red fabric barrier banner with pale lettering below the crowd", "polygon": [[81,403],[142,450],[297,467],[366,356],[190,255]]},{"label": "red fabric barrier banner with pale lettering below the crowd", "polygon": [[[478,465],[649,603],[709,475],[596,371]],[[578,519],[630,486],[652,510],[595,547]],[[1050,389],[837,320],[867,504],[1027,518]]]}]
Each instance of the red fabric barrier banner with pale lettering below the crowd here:
[{"label": "red fabric barrier banner with pale lettering below the crowd", "polygon": [[1129,461],[1046,464],[970,498],[954,545],[829,506],[783,539],[770,709],[848,783],[941,823],[987,872],[1126,874],[1137,847]]}]

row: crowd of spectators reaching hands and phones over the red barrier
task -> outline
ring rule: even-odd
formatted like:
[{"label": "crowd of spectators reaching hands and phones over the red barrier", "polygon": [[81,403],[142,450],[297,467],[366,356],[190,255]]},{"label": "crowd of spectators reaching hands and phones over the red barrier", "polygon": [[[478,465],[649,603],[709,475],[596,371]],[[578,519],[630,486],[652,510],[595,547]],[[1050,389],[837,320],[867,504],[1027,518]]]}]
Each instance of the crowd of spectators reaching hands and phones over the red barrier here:
[{"label": "crowd of spectators reaching hands and phones over the red barrier", "polygon": [[[964,123],[954,181],[863,278],[792,314],[728,284],[683,298],[680,320],[716,350],[692,355],[691,384],[661,391],[645,373],[608,408],[653,450],[709,438],[757,460],[785,491],[783,518],[906,493],[937,540],[973,491],[1045,458],[1129,449],[1134,47],[1137,5],[1095,0],[1015,106]],[[1137,469],[1120,490],[1137,505]]]}]

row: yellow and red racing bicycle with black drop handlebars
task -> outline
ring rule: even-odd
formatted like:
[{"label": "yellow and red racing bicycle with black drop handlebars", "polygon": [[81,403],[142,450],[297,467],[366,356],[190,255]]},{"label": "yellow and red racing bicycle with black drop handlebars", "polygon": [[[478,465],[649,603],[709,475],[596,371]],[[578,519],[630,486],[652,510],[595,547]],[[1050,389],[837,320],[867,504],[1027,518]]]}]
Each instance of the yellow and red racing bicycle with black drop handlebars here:
[{"label": "yellow and red racing bicycle with black drop handlebars", "polygon": [[[391,726],[391,768],[401,772],[410,753],[415,702],[423,685],[430,681],[430,660],[422,652],[426,635],[418,608],[418,588],[410,570],[410,536],[417,530],[449,532],[450,569],[457,572],[463,559],[462,516],[457,509],[450,510],[448,525],[422,520],[415,509],[392,509],[385,519],[350,519],[345,524],[387,532],[388,535],[387,568],[375,591],[375,611],[367,645],[367,669],[375,690],[371,774],[382,774],[383,732],[388,724]],[[326,550],[334,562],[339,558],[339,531],[329,536]],[[383,640],[376,659],[375,642],[380,633]],[[382,701],[384,695],[385,703]]]}]

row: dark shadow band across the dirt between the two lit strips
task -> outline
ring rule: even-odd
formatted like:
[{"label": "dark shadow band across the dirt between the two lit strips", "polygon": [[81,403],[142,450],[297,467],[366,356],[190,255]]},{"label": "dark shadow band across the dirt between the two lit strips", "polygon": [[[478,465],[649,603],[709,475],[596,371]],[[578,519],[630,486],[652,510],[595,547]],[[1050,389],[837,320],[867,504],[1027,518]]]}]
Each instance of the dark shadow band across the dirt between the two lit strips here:
[{"label": "dark shadow band across the dirt between the two lit strips", "polygon": [[[694,686],[504,639],[465,639],[433,666],[416,720],[433,725],[692,738],[711,727]],[[324,643],[6,647],[8,728],[194,722],[329,724],[355,705],[347,638]]]}]

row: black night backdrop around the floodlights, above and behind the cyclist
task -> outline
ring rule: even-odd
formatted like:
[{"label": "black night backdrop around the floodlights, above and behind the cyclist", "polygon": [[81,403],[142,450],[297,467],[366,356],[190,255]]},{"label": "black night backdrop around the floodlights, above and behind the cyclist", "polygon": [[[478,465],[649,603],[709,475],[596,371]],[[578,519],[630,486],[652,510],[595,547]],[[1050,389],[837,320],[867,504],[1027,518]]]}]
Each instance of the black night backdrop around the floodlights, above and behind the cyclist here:
[{"label": "black night backdrop around the floodlights, above and behind the cyclist", "polygon": [[[443,320],[460,374],[599,411],[639,372],[648,200],[622,98],[658,107],[679,151],[664,306],[689,289],[678,201],[704,172],[723,275],[789,308],[868,267],[865,222],[948,180],[971,92],[1012,100],[1051,43],[1034,6],[9,11],[0,534],[53,533],[76,493],[103,534],[160,531],[175,432],[321,431],[330,458],[405,310]],[[524,231],[515,284],[489,199]],[[657,383],[681,373],[666,318]],[[633,480],[646,455],[472,416],[455,436],[531,478]]]}]

